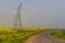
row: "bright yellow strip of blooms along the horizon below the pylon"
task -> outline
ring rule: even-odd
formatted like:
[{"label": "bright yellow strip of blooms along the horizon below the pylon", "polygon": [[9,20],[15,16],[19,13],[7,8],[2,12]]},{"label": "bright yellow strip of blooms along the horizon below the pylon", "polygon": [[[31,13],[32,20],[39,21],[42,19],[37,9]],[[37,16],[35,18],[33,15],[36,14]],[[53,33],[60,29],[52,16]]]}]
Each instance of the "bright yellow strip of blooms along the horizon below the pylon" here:
[{"label": "bright yellow strip of blooms along the horizon below the pylon", "polygon": [[[22,28],[17,30],[46,30],[47,28]],[[14,28],[0,28],[0,31],[15,31]]]}]

